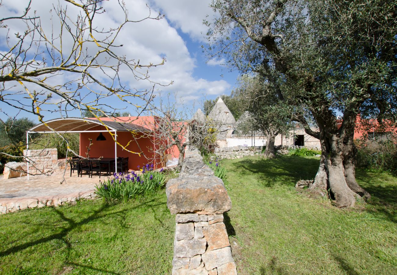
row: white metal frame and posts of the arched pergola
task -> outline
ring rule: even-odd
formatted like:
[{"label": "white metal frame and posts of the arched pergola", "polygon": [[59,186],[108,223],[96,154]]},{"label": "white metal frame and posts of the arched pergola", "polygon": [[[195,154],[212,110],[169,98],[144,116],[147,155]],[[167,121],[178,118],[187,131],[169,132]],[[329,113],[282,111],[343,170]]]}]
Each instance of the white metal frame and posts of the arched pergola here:
[{"label": "white metal frame and posts of the arched pergola", "polygon": [[[90,127],[89,129],[94,128],[96,126],[104,126],[104,124],[102,124],[96,120],[87,120],[84,118],[72,118],[72,119],[73,120],[82,120],[82,121],[90,122],[90,123],[93,122],[93,123],[97,124],[97,125]],[[58,120],[65,120],[65,119],[64,118],[54,119],[54,120],[50,120],[50,122],[54,122],[54,121],[58,121]],[[69,123],[69,124],[71,124],[71,123]],[[26,131],[26,153],[29,150],[29,134],[50,134],[50,133],[55,133],[55,132],[58,132],[58,133],[100,133],[100,132],[111,132],[112,133],[112,132],[114,132],[114,161],[115,161],[114,171],[117,173],[117,130],[116,129],[106,125],[106,127],[108,127],[110,130],[73,131],[73,129],[80,127],[80,126],[77,126],[77,127],[73,128],[72,131],[57,131],[56,128],[54,128],[54,131],[33,131],[33,129],[35,129],[41,125],[43,125],[43,124],[36,125],[33,128],[31,128],[30,130]],[[68,124],[64,124],[64,125],[68,125]],[[27,160],[27,180],[29,180],[29,160]]]}]

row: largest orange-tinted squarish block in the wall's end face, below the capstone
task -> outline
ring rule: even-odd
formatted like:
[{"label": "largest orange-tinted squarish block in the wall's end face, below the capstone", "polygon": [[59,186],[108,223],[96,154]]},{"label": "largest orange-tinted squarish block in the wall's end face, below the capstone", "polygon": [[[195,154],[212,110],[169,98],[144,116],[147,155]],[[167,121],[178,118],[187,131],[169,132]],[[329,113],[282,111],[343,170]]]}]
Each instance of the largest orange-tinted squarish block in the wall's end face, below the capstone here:
[{"label": "largest orange-tinted squarish block in the wall's end face, below the capstone", "polygon": [[203,227],[202,232],[208,243],[207,251],[230,246],[224,223],[214,223],[208,227]]}]

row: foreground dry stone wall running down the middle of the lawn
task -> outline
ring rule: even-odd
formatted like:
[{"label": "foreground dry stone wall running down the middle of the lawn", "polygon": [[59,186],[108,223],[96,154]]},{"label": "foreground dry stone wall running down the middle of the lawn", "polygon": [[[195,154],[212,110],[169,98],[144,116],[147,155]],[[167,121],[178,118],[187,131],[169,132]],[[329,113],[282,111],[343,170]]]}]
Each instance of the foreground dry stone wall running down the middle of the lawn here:
[{"label": "foreground dry stone wall running down the middle of the lawn", "polygon": [[223,216],[231,201],[197,150],[186,153],[166,194],[168,208],[177,214],[172,274],[237,274]]}]

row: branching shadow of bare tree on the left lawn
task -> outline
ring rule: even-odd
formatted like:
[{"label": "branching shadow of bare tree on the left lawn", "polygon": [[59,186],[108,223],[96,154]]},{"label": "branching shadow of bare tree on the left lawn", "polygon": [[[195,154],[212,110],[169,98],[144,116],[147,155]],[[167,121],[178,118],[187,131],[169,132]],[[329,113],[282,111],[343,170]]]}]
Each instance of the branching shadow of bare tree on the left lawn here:
[{"label": "branching shadow of bare tree on the left lawn", "polygon": [[[0,257],[4,257],[7,256],[9,254],[13,254],[13,253],[17,253],[19,251],[25,250],[29,247],[35,246],[37,244],[42,244],[45,242],[49,242],[51,240],[60,240],[61,242],[64,242],[66,245],[66,249],[67,249],[67,257],[69,256],[69,252],[71,250],[71,244],[67,241],[66,235],[71,231],[71,230],[75,230],[75,229],[79,229],[81,226],[89,224],[93,221],[96,221],[98,219],[102,219],[111,215],[123,215],[125,212],[127,211],[131,211],[135,208],[139,208],[142,206],[146,206],[146,207],[156,207],[158,205],[163,205],[165,204],[165,202],[162,201],[158,201],[157,199],[150,199],[148,201],[143,201],[142,203],[139,203],[137,205],[135,205],[134,207],[128,207],[119,211],[114,211],[114,212],[107,212],[106,210],[109,209],[109,207],[111,207],[112,205],[109,203],[106,203],[105,201],[102,203],[102,205],[100,206],[99,209],[93,211],[93,213],[91,215],[89,215],[88,217],[86,217],[85,219],[82,219],[81,221],[75,221],[73,219],[70,219],[68,217],[65,216],[65,214],[62,212],[62,209],[58,209],[56,207],[52,207],[52,210],[55,211],[59,217],[63,220],[67,222],[67,227],[64,227],[60,232],[55,233],[55,234],[51,234],[50,236],[46,236],[43,238],[39,238],[37,240],[31,241],[31,242],[26,242],[25,244],[20,244],[17,246],[13,246],[11,248],[8,248],[7,250],[4,251],[0,251]],[[78,207],[78,206],[73,206],[73,207]],[[89,267],[89,266],[85,266],[85,265],[81,265],[79,263],[72,263],[72,262],[66,262],[67,264],[71,264],[71,265],[79,265],[81,267],[87,267],[90,269],[93,269],[95,271],[102,271],[105,273],[111,273],[111,274],[117,274],[114,273],[112,271],[108,271],[108,270],[102,270],[102,269],[95,269],[94,267]]]}]

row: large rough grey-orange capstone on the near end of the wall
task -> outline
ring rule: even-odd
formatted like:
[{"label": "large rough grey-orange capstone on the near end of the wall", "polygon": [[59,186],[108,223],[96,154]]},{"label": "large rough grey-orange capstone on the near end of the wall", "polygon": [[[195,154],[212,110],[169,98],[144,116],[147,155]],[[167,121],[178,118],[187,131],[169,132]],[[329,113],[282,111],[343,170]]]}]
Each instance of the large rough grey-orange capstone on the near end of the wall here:
[{"label": "large rough grey-orange capstone on the near end of the wall", "polygon": [[221,214],[231,209],[224,183],[216,176],[180,176],[166,185],[171,214]]}]

